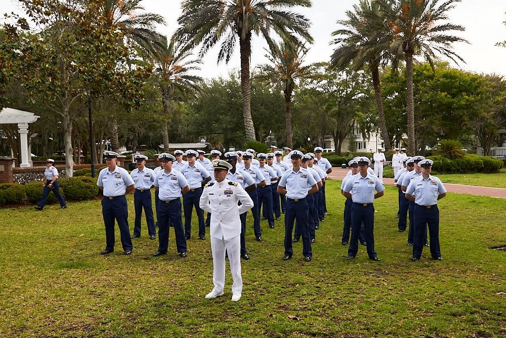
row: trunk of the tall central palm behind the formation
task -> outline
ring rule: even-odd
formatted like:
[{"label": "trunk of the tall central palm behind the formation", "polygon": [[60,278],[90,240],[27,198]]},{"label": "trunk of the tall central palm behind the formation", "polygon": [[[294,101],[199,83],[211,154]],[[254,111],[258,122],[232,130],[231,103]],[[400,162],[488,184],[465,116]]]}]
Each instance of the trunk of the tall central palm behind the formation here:
[{"label": "trunk of the tall central palm behind the formation", "polygon": [[255,126],[251,118],[251,81],[249,78],[249,58],[251,57],[251,33],[247,33],[245,39],[239,35],[241,51],[241,89],[242,89],[242,114],[244,116],[244,130],[246,141],[255,141]]}]

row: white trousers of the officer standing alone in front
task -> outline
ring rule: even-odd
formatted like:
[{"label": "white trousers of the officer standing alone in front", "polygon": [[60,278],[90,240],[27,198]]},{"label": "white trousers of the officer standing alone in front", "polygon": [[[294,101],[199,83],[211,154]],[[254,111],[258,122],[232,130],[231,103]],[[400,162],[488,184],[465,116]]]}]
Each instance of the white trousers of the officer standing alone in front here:
[{"label": "white trousers of the officer standing alone in front", "polygon": [[240,235],[225,240],[211,237],[211,251],[213,252],[213,291],[221,293],[225,287],[225,249],[230,261],[232,274],[232,293],[242,293],[241,277],[241,241]]}]

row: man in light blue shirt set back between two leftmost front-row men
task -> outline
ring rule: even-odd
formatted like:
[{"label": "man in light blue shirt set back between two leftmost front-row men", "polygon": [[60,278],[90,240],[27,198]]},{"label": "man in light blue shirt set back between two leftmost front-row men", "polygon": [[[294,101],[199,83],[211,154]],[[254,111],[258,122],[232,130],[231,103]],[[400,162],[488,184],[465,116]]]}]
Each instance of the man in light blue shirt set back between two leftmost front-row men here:
[{"label": "man in light blue shirt set back between two leftmost front-row men", "polygon": [[147,156],[134,155],[137,162],[137,168],[132,170],[130,176],[135,182],[134,193],[134,209],[135,209],[135,222],[134,222],[134,235],[132,238],[141,237],[141,218],[142,209],[146,215],[146,224],[148,227],[148,235],[150,239],[156,238],[155,220],[153,217],[153,208],[151,207],[151,187],[155,180],[155,172],[152,169],[146,168]]}]

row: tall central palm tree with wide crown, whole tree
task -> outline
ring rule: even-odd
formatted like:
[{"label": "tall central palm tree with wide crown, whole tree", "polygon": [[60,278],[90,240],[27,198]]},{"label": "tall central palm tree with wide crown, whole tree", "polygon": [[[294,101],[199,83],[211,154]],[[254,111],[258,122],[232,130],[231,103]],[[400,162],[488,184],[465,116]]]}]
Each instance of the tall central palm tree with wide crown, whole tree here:
[{"label": "tall central palm tree with wide crown, whole tree", "polygon": [[292,45],[300,44],[299,36],[311,43],[309,20],[301,14],[287,11],[295,6],[311,7],[310,0],[184,0],[181,25],[175,38],[189,47],[201,45],[202,57],[221,41],[218,62],[229,62],[237,39],[241,58],[241,89],[246,140],[255,140],[251,119],[249,62],[251,36],[261,35],[269,48],[274,47],[272,34]]}]

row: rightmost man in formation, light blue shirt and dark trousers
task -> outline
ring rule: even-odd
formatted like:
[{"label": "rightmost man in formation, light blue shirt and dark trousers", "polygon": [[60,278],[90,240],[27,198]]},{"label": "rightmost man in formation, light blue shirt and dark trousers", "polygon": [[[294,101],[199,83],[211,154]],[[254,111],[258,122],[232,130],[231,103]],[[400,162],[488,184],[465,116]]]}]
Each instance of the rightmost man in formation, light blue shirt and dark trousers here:
[{"label": "rightmost man in formation, light blue shirt and dark trousers", "polygon": [[421,176],[412,179],[406,189],[406,198],[415,203],[412,261],[417,261],[421,257],[427,226],[431,238],[432,258],[443,260],[439,248],[438,201],[446,196],[446,189],[439,178],[431,175],[433,164],[432,160],[418,162],[418,166],[421,168]]}]

